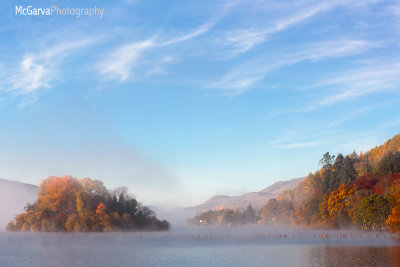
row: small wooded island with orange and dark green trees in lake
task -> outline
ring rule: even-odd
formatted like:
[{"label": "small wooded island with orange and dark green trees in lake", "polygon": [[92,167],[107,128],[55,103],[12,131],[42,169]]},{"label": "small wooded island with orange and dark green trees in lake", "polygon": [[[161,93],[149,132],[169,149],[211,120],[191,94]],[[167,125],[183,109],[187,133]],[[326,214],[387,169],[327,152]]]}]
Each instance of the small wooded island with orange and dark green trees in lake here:
[{"label": "small wooded island with orange and dark green trees in lake", "polygon": [[11,221],[9,231],[129,231],[168,230],[148,207],[130,196],[126,187],[107,190],[103,183],[72,176],[48,177],[38,198]]}]

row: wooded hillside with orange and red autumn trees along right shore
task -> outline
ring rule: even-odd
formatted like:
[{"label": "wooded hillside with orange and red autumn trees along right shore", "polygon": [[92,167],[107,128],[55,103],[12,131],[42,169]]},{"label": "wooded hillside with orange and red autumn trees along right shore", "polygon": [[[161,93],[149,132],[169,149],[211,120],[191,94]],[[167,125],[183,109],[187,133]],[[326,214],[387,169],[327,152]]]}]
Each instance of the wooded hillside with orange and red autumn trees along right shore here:
[{"label": "wooded hillside with orange and red autumn trees along right shore", "polygon": [[191,225],[245,223],[400,233],[400,134],[363,153],[325,153],[321,168],[263,208],[204,211]]}]

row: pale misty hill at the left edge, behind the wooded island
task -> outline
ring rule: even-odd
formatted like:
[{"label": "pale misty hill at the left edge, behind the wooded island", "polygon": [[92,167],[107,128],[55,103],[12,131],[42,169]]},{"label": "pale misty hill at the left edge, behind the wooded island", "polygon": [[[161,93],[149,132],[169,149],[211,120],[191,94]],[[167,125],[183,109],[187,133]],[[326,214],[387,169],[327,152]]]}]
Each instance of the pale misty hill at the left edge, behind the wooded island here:
[{"label": "pale misty hill at the left edge, behind the wooded island", "polygon": [[8,222],[24,211],[28,202],[35,202],[37,193],[36,185],[0,179],[0,231],[5,231]]}]

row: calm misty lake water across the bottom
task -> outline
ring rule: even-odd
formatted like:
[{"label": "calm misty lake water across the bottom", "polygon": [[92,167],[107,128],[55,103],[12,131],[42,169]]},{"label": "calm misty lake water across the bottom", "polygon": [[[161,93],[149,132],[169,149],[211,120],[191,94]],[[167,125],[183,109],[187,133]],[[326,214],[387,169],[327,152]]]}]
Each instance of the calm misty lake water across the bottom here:
[{"label": "calm misty lake water across the bottom", "polygon": [[2,232],[0,266],[400,266],[400,243],[382,232],[258,227]]}]

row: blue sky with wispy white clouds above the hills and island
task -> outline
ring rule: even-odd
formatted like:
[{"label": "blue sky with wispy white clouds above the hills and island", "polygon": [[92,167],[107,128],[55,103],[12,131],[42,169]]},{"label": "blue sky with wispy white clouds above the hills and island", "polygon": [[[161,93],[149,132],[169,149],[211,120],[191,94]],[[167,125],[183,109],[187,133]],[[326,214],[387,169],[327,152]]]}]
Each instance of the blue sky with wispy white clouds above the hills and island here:
[{"label": "blue sky with wispy white clouds above the hills and island", "polygon": [[400,132],[399,37],[400,1],[3,0],[0,177],[174,207],[306,176]]}]

